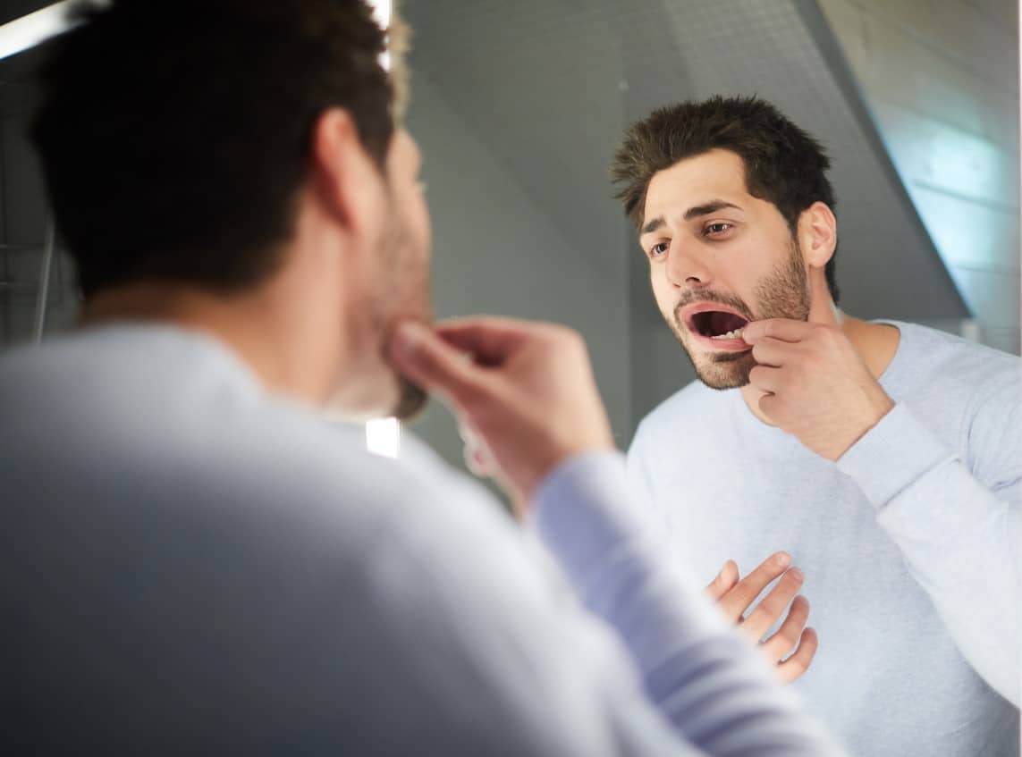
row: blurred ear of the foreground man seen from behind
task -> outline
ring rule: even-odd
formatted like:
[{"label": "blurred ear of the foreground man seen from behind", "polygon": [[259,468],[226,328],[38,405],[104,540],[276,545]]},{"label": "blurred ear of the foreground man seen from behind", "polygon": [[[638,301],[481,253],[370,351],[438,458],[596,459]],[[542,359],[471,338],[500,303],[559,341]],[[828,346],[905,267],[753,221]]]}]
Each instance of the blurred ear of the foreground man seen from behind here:
[{"label": "blurred ear of the foreground man seen from behind", "polygon": [[343,108],[324,110],[313,125],[311,143],[311,183],[323,210],[361,231],[379,210],[379,193],[367,190],[382,178],[362,146],[355,120]]}]

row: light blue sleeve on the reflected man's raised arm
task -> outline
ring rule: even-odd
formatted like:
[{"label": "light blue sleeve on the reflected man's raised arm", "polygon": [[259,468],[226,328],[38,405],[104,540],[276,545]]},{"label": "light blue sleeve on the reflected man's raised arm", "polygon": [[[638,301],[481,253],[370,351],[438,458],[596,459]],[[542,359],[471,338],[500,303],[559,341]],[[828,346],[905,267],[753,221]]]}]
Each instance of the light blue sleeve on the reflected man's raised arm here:
[{"label": "light blue sleeve on the reflected man's raised arm", "polygon": [[[992,444],[1003,464],[989,483],[900,404],[842,456],[838,468],[876,507],[878,522],[966,659],[1018,706],[1022,451],[1012,422],[1018,408],[1009,404],[996,413],[1005,432],[993,434]],[[974,433],[991,438],[986,430]]]}]

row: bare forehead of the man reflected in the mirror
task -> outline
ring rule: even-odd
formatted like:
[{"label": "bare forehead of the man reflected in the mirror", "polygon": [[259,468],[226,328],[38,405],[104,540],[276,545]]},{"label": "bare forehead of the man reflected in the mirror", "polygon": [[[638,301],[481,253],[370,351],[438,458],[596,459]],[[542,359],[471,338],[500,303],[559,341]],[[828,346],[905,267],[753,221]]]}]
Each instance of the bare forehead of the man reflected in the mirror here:
[{"label": "bare forehead of the man reflected in the mirror", "polygon": [[737,153],[710,150],[658,171],[646,189],[643,219],[678,216],[713,198],[743,207],[753,199],[745,183],[745,163]]}]

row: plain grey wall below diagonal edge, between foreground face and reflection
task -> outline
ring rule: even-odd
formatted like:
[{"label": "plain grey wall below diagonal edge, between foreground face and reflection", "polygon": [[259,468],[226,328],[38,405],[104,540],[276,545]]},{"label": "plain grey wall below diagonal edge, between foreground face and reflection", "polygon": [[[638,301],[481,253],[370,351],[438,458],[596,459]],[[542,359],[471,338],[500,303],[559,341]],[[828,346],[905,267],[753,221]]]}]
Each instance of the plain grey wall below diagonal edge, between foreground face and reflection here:
[{"label": "plain grey wall below diagonal edge, between foreground face and reflection", "polygon": [[[440,317],[492,313],[568,324],[587,338],[619,443],[631,432],[624,284],[601,276],[548,208],[509,177],[433,83],[414,78],[409,128],[424,155],[433,219],[432,288]],[[451,463],[462,443],[432,404],[413,430]]]}]

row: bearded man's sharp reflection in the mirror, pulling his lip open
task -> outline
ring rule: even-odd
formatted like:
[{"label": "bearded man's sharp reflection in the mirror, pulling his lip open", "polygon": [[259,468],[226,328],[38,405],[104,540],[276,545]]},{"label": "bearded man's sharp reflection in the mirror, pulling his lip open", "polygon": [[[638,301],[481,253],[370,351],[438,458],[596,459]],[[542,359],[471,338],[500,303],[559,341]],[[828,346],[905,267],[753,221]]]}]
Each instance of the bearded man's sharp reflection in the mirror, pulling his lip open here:
[{"label": "bearded man's sharp reflection in the mirror, pulling his lip open", "polygon": [[[855,754],[1015,755],[1019,361],[837,309],[828,167],[756,98],[628,131],[620,197],[699,377],[642,422],[631,478],[678,552],[721,571],[714,598],[754,596],[736,563],[777,550],[804,569],[821,652],[794,685]],[[783,668],[792,647],[763,651]]]}]

